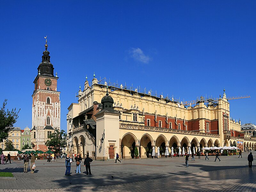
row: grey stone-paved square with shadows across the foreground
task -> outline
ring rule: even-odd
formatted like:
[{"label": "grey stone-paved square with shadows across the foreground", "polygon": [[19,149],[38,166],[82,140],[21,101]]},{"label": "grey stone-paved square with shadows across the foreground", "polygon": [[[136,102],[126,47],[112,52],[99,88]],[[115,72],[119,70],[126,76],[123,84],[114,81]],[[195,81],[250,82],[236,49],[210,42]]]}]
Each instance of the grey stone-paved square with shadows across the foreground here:
[{"label": "grey stone-paved square with shadows across the foreground", "polygon": [[[196,159],[184,165],[184,158],[132,159],[122,163],[92,162],[92,175],[63,176],[64,160],[37,161],[36,173],[23,173],[23,163],[1,165],[17,180],[0,180],[0,191],[256,191],[256,166],[248,168],[247,153],[220,157],[220,162]],[[254,155],[254,154],[253,154]],[[111,178],[111,175],[114,178]],[[71,182],[71,184],[70,184]],[[32,190],[31,190],[32,189]]]}]

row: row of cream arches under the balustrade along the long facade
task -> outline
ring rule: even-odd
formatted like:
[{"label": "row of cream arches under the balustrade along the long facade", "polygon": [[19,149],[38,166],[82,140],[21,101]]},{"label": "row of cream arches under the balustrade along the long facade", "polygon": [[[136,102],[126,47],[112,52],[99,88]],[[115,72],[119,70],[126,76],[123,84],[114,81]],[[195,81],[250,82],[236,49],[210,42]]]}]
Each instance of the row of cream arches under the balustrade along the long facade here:
[{"label": "row of cream arches under the balustrade along the long facade", "polygon": [[[125,132],[126,131],[126,132]],[[147,158],[148,151],[152,147],[159,147],[164,149],[168,147],[169,151],[174,148],[174,152],[178,153],[178,148],[184,147],[185,152],[188,152],[188,148],[195,147],[197,151],[198,147],[220,147],[220,137],[188,135],[188,134],[173,134],[173,133],[161,133],[161,132],[145,132],[145,131],[131,131],[120,130],[120,151],[122,158],[132,158],[134,154],[134,148],[137,147],[139,156],[141,158]]]}]

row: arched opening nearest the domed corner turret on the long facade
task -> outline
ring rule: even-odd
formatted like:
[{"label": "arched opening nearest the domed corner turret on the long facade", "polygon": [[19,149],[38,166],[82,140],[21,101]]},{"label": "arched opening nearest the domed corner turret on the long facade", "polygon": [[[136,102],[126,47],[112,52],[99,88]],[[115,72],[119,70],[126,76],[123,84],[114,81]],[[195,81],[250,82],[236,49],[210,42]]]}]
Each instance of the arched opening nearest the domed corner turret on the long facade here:
[{"label": "arched opening nearest the domed corner turret on the long facade", "polygon": [[129,159],[134,157],[134,148],[137,139],[131,133],[124,135],[121,141],[121,154],[122,158]]}]

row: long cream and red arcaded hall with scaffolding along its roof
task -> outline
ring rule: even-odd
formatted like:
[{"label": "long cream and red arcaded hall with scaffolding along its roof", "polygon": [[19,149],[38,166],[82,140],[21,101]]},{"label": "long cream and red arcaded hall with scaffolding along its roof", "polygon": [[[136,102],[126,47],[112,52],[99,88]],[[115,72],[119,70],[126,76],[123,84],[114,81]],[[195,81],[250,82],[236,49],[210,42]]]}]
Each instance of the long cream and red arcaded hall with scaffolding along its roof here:
[{"label": "long cream and red arcaded hall with scaffolding along its roof", "polygon": [[122,84],[86,80],[77,93],[78,103],[68,107],[68,151],[96,160],[147,158],[152,147],[177,149],[230,146],[240,142],[242,150],[256,147],[252,135],[241,132],[241,122],[230,118],[224,93],[218,99],[196,100],[186,105]]}]

